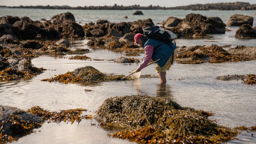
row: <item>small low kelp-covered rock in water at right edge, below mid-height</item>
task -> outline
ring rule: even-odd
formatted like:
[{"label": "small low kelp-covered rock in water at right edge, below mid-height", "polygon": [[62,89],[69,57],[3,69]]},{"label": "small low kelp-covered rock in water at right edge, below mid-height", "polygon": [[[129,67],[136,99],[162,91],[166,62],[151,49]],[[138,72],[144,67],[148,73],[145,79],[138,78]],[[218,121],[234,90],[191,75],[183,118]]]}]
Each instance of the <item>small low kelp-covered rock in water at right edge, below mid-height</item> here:
[{"label": "small low kelp-covered rock in water at right edge, below mid-height", "polygon": [[255,74],[247,74],[247,75],[223,75],[216,77],[218,80],[222,81],[230,81],[230,80],[242,80],[245,84],[256,84],[256,75]]}]

